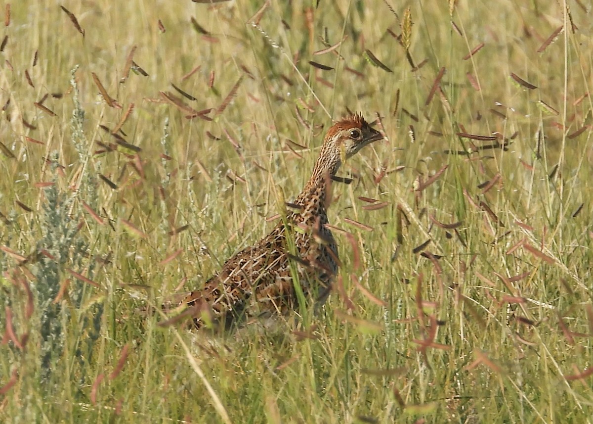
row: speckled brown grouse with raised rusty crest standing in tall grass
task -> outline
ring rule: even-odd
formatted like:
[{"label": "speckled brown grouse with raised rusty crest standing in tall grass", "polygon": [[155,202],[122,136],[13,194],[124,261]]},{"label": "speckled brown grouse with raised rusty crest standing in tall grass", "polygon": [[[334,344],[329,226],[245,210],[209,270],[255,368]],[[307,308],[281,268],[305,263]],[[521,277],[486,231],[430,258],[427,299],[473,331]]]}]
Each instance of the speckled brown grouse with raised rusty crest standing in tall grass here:
[{"label": "speckled brown grouse with raised rusty crest standing in tall grass", "polygon": [[[229,258],[202,289],[184,299],[193,306],[196,327],[211,321],[228,328],[238,317],[286,314],[298,306],[291,260],[297,264],[304,295],[318,296],[320,303],[326,300],[339,264],[336,241],[326,227],[330,177],[343,158],[381,138],[361,115],[347,116],[331,126],[311,178],[287,211],[286,220],[280,220],[256,245]],[[294,242],[294,255],[287,235]]]}]

